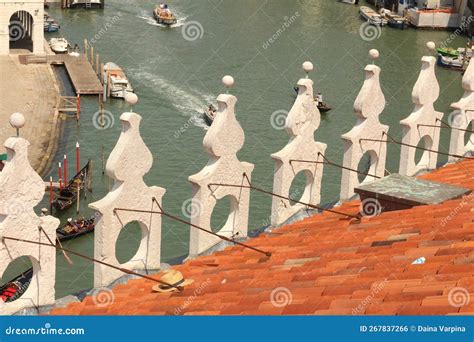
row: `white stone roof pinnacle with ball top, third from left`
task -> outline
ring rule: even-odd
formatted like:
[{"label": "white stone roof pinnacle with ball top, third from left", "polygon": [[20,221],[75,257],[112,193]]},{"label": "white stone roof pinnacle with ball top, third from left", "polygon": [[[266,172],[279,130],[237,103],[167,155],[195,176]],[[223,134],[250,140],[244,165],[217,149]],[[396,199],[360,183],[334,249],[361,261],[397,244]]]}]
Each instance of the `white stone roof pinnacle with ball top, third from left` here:
[{"label": "white stone roof pinnacle with ball top, third from left", "polygon": [[[231,87],[234,79],[225,76],[224,85]],[[207,165],[197,174],[189,177],[193,187],[193,204],[199,208],[191,215],[191,223],[212,231],[211,216],[217,201],[230,197],[230,213],[218,234],[237,238],[247,236],[250,189],[240,187],[216,186],[212,184],[249,185],[253,164],[241,162],[237,152],[245,141],[244,131],[235,118],[237,98],[230,94],[217,97],[217,113],[211,127],[204,137],[204,149],[210,155]],[[246,175],[246,177],[244,176]],[[194,257],[221,240],[190,228],[189,255]]]}]

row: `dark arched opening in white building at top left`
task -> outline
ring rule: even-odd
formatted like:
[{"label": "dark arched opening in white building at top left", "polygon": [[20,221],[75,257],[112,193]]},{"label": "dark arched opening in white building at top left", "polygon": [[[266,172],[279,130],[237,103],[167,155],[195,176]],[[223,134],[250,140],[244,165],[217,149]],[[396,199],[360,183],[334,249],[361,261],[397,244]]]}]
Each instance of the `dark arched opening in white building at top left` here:
[{"label": "dark arched opening in white building at top left", "polygon": [[33,52],[33,16],[27,11],[16,11],[8,24],[10,50],[24,49]]}]

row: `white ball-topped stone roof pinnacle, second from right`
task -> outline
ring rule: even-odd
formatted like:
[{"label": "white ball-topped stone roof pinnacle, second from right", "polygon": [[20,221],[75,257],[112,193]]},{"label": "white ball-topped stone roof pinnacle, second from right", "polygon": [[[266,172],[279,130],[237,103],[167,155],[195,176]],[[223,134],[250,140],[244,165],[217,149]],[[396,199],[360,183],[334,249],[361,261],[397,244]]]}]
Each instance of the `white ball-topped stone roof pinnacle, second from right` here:
[{"label": "white ball-topped stone roof pinnacle, second from right", "polygon": [[[429,42],[427,46],[430,50],[435,48],[433,42]],[[435,74],[436,58],[423,56],[421,63],[421,72],[411,95],[415,108],[410,116],[400,121],[403,126],[402,142],[417,146],[423,140],[424,148],[437,151],[440,129],[422,126],[439,126],[438,120],[443,117],[443,113],[434,109],[434,103],[439,96],[439,84]],[[424,151],[418,164],[415,161],[415,153],[415,147],[401,146],[399,169],[401,175],[413,176],[421,170],[436,168],[437,153]]]}]

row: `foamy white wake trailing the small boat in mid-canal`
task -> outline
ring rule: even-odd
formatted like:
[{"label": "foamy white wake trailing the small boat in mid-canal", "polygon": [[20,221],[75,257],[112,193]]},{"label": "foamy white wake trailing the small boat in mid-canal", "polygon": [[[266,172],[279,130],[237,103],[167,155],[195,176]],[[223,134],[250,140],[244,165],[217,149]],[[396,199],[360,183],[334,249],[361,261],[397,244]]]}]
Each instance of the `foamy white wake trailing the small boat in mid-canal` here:
[{"label": "foamy white wake trailing the small boat in mid-canal", "polygon": [[152,86],[155,93],[166,97],[169,103],[183,116],[189,117],[189,122],[207,130],[209,127],[202,113],[209,103],[215,101],[215,96],[203,94],[196,89],[183,89],[170,81],[144,70],[129,70],[133,78],[145,81]]}]

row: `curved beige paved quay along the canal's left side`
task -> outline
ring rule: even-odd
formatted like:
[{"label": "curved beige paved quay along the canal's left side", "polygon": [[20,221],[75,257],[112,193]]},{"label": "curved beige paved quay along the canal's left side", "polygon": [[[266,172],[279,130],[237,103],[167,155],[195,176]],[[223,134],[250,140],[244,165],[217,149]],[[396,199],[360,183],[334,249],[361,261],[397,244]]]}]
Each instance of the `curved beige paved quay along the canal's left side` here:
[{"label": "curved beige paved quay along the canal's left side", "polygon": [[[8,122],[10,115],[22,113],[26,125],[20,135],[31,143],[31,165],[44,174],[56,154],[60,134],[59,86],[49,64],[25,65],[18,57],[0,57],[0,140],[15,134]],[[5,153],[3,146],[0,149]]]}]

